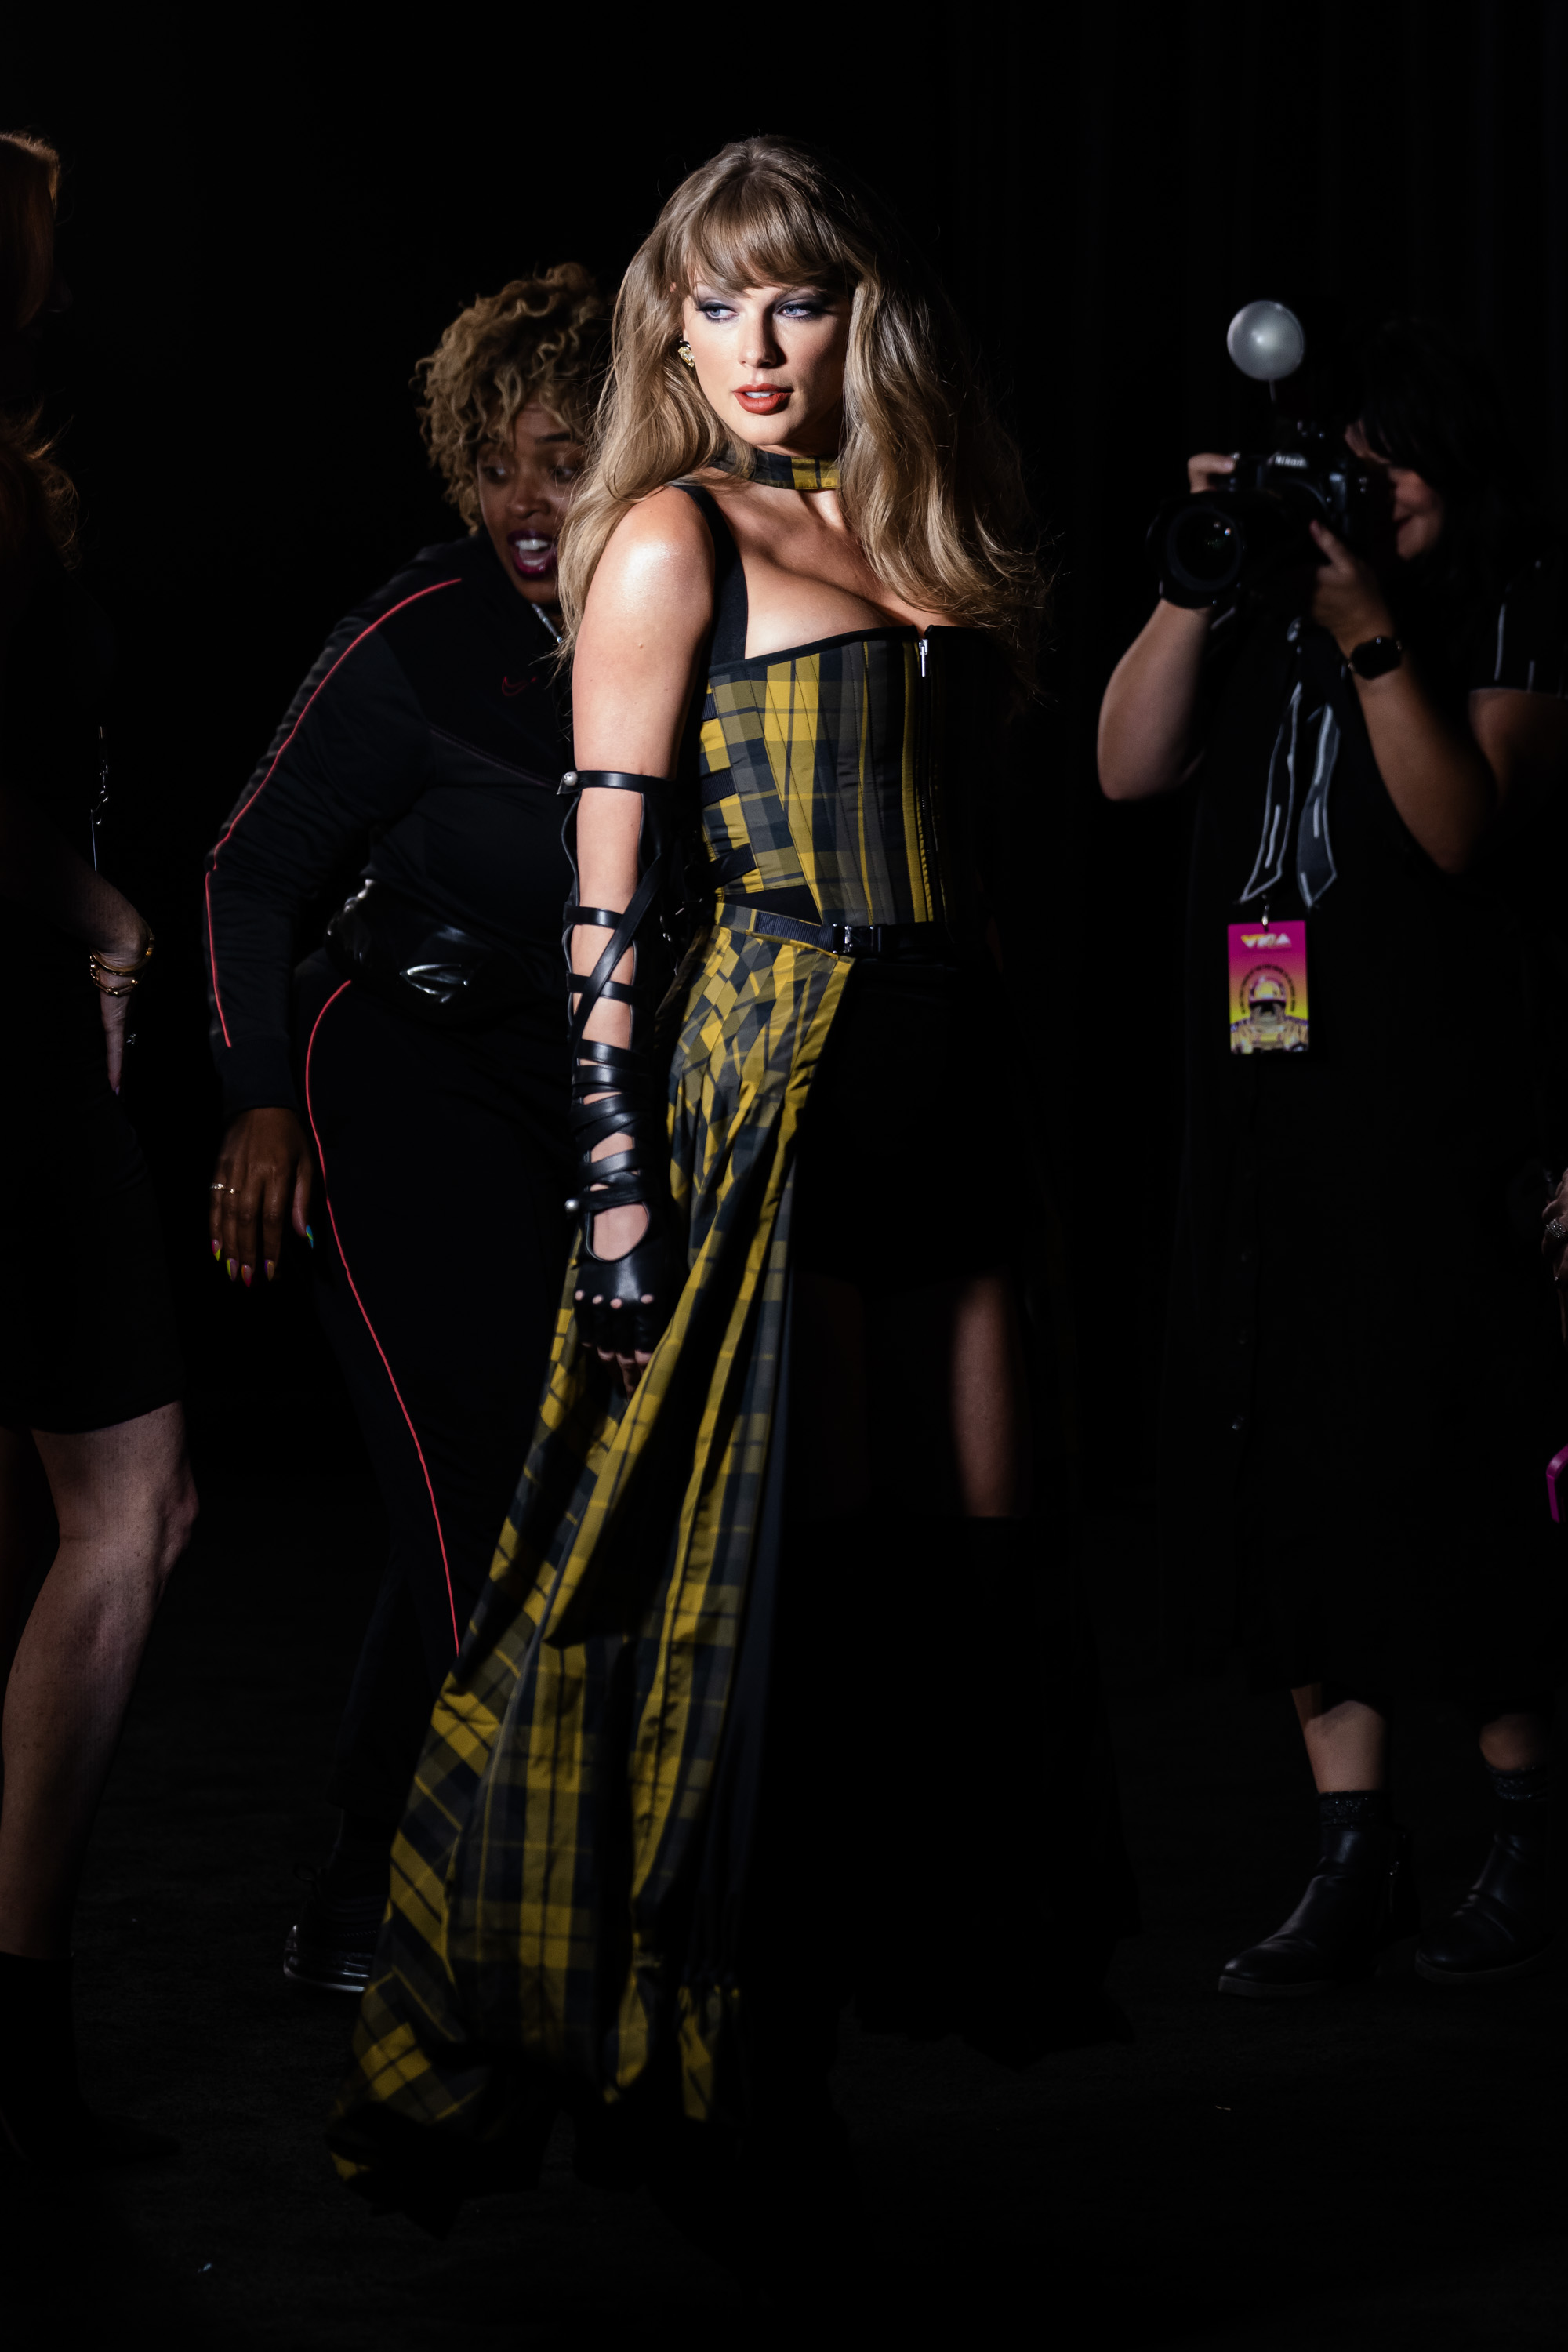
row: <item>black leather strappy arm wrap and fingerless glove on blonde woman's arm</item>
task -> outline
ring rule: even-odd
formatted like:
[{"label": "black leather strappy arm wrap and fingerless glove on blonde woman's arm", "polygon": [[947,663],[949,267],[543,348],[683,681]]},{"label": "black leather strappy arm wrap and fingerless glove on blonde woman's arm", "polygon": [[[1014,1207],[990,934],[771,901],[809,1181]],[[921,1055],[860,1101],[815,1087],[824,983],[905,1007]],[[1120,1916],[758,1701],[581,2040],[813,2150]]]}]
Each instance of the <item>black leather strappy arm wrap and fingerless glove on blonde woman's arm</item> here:
[{"label": "black leather strappy arm wrap and fingerless glove on blonde woman's arm", "polygon": [[[679,875],[679,840],[670,821],[665,776],[630,776],[621,769],[569,769],[562,776],[562,793],[576,795],[583,788],[642,795],[637,889],[625,913],[576,903],[576,797],[564,826],[574,877],[564,946],[571,974],[571,1143],[578,1160],[576,1195],[567,1209],[583,1218],[574,1303],[578,1329],[590,1345],[611,1355],[632,1355],[654,1345],[686,1279],[686,1251],[675,1237],[670,1214],[665,1073],[654,1051],[654,1014],[665,962],[661,901],[668,898]],[[574,929],[609,931],[604,953],[588,974],[571,967]],[[630,983],[614,978],[628,950],[632,953]],[[630,1009],[630,1047],[583,1035],[597,1004]],[[611,1136],[621,1138],[621,1150],[595,1160],[595,1145]],[[597,1258],[592,1251],[597,1211],[630,1207],[646,1209],[644,1237],[621,1258]]]}]

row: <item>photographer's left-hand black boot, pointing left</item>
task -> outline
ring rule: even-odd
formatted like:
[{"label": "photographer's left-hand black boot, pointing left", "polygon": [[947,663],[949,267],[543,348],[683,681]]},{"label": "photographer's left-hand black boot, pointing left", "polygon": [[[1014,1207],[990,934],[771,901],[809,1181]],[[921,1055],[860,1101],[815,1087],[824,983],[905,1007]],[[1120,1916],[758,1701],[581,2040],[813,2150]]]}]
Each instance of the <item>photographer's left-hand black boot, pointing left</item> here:
[{"label": "photographer's left-hand black boot, pointing left", "polygon": [[1286,1924],[1225,1964],[1220,1992],[1293,1999],[1352,1985],[1389,1945],[1415,1936],[1420,1907],[1410,1832],[1394,1828],[1382,1790],[1319,1797],[1319,1865]]}]

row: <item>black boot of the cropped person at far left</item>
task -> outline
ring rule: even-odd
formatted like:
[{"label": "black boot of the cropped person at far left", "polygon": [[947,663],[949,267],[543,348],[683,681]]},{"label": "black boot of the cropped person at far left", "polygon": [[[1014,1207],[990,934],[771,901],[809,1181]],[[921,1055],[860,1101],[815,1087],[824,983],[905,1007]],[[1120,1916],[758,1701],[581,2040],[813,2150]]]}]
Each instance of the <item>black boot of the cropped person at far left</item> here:
[{"label": "black boot of the cropped person at far left", "polygon": [[94,2114],[75,2079],[71,1962],[0,1952],[0,2159],[96,2171],[174,2157],[179,2140]]}]

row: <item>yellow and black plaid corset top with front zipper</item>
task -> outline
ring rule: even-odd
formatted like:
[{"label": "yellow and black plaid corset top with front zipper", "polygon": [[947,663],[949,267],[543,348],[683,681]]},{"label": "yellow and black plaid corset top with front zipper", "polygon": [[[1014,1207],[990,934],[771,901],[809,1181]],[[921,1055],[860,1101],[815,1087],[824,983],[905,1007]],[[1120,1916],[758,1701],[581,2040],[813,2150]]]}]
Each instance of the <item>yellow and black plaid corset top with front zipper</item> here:
[{"label": "yellow and black plaid corset top with front zipper", "polygon": [[698,880],[818,922],[950,922],[933,703],[957,635],[872,628],[715,663]]}]

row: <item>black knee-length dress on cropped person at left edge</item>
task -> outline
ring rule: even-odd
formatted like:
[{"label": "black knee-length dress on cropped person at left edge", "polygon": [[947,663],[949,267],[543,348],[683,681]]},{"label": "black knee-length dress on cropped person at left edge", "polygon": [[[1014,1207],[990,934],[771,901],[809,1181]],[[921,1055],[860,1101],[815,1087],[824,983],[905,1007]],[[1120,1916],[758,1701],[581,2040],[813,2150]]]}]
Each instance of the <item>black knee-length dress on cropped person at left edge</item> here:
[{"label": "black knee-length dress on cropped person at left edge", "polygon": [[[113,630],[42,529],[0,635],[0,781],[94,854]],[[153,1183],[108,1087],[87,943],[9,901],[0,1021],[0,1425],[115,1428],[183,1388]],[[158,981],[153,978],[153,988]]]}]

